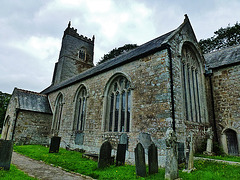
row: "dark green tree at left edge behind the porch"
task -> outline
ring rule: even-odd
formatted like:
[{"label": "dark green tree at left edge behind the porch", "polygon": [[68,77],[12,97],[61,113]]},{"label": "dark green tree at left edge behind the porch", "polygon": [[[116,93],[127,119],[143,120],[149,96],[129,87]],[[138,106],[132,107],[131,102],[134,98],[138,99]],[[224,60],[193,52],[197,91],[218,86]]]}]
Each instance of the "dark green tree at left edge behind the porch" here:
[{"label": "dark green tree at left edge behind the porch", "polygon": [[3,127],[3,122],[10,98],[11,98],[10,94],[3,93],[0,91],[0,128]]}]

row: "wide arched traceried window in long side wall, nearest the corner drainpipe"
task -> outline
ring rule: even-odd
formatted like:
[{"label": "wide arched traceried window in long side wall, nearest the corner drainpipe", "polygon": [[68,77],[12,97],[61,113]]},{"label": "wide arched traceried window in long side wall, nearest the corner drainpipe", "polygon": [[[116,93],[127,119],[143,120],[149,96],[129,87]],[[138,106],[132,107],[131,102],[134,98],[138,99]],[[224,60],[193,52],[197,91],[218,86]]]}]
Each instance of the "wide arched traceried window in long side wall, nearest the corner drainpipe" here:
[{"label": "wide arched traceried window in long side wall, nearest the corner drainpipe", "polygon": [[106,131],[129,132],[131,113],[130,82],[124,76],[116,77],[107,93]]}]

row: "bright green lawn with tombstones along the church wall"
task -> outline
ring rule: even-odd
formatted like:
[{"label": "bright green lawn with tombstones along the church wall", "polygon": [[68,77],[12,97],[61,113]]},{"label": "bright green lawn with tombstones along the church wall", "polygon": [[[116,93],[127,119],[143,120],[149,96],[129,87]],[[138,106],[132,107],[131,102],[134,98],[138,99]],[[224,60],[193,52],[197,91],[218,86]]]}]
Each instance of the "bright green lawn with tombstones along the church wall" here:
[{"label": "bright green lawn with tombstones along the church wall", "polygon": [[[96,179],[164,179],[164,169],[146,178],[136,177],[135,166],[110,166],[97,169],[97,162],[82,158],[82,153],[61,149],[59,153],[48,153],[49,149],[39,145],[14,146],[14,150],[47,164],[60,166],[68,171],[78,172]],[[240,166],[226,165],[210,161],[195,161],[196,170],[190,174],[179,171],[183,179],[240,179]]]}]

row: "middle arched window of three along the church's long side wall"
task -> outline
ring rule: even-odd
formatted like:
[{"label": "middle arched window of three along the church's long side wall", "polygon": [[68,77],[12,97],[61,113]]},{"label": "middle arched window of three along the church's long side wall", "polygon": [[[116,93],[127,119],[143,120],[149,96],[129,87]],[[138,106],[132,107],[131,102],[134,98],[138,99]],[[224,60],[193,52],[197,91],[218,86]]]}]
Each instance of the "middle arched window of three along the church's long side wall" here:
[{"label": "middle arched window of three along the church's long side wall", "polygon": [[86,118],[86,105],[87,105],[87,90],[85,87],[81,87],[77,91],[76,106],[75,106],[75,119],[74,127],[75,131],[83,131]]}]

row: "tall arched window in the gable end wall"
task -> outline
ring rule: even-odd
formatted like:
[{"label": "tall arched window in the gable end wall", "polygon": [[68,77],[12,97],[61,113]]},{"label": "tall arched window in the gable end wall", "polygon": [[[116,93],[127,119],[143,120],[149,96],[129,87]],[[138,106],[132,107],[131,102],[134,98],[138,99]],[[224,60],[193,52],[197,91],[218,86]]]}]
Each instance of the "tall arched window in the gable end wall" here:
[{"label": "tall arched window in the gable end wall", "polygon": [[200,61],[189,45],[182,49],[182,82],[187,121],[203,122],[202,70]]}]

